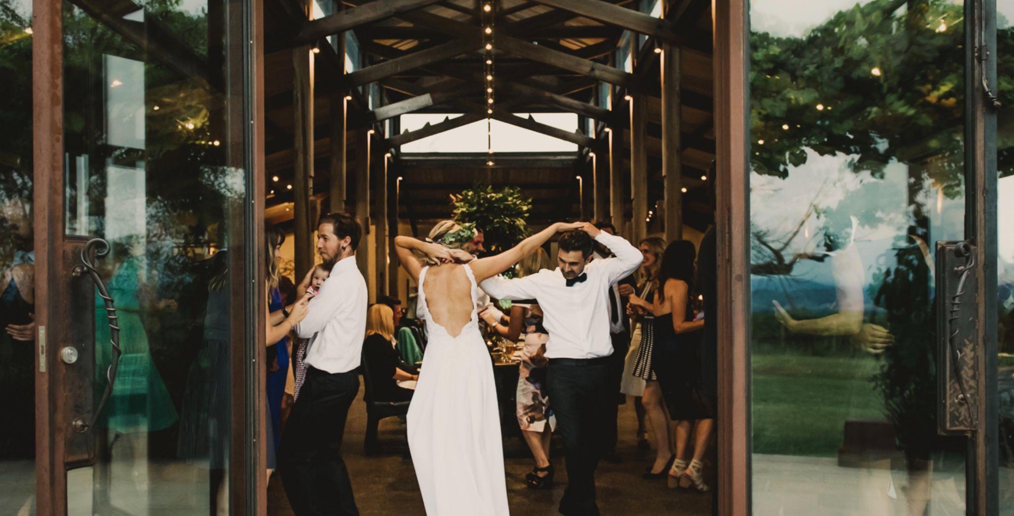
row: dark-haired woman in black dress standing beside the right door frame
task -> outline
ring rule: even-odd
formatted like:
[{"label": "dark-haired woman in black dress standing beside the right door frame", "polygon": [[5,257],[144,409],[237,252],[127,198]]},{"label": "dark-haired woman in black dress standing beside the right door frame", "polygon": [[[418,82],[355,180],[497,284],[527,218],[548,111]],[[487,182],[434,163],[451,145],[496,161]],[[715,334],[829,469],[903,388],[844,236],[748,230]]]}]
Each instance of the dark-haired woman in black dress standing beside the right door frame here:
[{"label": "dark-haired woman in black dress standing beside the right door frame", "polygon": [[[693,485],[708,491],[701,474],[702,459],[714,426],[714,400],[704,395],[701,374],[701,330],[704,318],[694,314],[694,242],[676,240],[662,254],[655,296],[655,358],[653,366],[669,416],[676,422],[676,460],[669,468],[669,486]],[[694,436],[690,462],[687,444]]]}]

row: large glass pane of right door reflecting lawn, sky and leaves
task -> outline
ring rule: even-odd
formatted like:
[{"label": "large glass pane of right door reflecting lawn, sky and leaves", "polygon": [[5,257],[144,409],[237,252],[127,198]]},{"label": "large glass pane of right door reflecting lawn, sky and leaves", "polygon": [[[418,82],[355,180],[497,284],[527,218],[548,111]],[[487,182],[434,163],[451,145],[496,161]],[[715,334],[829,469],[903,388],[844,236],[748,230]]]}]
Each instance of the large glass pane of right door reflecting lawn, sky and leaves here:
[{"label": "large glass pane of right door reflecting lawn, sky and leaves", "polygon": [[963,237],[963,5],[749,15],[753,511],[963,514],[932,266]]}]

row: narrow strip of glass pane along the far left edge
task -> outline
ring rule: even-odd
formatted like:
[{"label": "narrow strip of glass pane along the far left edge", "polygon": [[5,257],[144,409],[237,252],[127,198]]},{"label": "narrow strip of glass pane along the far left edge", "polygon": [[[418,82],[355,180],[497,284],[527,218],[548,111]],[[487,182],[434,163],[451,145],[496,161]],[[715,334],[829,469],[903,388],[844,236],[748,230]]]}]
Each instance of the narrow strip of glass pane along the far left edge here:
[{"label": "narrow strip of glass pane along the far left edge", "polygon": [[30,23],[30,0],[0,4],[0,507],[11,514],[35,512]]}]

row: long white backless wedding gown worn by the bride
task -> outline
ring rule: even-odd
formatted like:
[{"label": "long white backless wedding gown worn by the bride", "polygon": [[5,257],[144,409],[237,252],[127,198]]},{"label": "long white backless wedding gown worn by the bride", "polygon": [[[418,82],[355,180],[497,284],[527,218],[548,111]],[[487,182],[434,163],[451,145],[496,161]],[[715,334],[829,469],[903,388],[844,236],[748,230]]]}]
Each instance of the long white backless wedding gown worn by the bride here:
[{"label": "long white backless wedding gown worn by the bride", "polygon": [[479,330],[472,268],[472,318],[457,337],[433,320],[419,274],[419,316],[429,342],[409,406],[409,448],[430,516],[506,515],[503,442],[493,364]]}]

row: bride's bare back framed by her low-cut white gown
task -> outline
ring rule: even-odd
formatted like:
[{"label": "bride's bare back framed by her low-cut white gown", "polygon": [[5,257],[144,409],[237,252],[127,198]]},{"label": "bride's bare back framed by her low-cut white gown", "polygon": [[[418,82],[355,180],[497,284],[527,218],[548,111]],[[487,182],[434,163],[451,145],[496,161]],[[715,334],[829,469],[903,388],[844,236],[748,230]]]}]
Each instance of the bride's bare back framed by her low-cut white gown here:
[{"label": "bride's bare back framed by her low-cut white gown", "polygon": [[465,324],[472,320],[475,309],[472,300],[472,282],[464,271],[467,265],[442,264],[426,271],[423,290],[426,305],[433,322],[440,324],[455,338],[461,335]]}]

